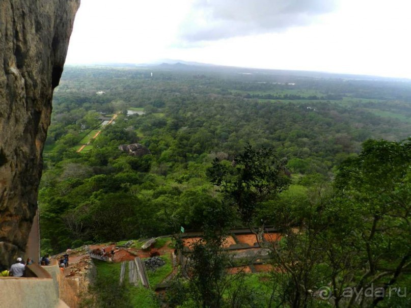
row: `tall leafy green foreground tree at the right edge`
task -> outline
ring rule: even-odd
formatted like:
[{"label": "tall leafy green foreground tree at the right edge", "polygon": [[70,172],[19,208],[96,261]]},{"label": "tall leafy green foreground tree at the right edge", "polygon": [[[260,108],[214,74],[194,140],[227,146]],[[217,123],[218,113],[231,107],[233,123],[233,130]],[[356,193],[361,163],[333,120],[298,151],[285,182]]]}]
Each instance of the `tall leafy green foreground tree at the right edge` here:
[{"label": "tall leafy green foreground tree at the right edge", "polygon": [[[358,157],[341,164],[336,188],[351,214],[361,219],[351,232],[361,256],[361,277],[354,287],[379,284],[387,291],[411,270],[411,138],[368,140]],[[383,299],[373,298],[370,306]]]}]

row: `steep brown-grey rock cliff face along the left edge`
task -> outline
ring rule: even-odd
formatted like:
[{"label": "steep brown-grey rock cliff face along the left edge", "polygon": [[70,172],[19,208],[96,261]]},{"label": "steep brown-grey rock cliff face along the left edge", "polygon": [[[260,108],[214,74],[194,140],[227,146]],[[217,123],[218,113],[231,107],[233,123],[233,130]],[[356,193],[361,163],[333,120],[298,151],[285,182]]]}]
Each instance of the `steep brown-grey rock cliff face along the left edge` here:
[{"label": "steep brown-grey rock cliff face along the left edge", "polygon": [[79,0],[0,0],[0,265],[22,256]]}]

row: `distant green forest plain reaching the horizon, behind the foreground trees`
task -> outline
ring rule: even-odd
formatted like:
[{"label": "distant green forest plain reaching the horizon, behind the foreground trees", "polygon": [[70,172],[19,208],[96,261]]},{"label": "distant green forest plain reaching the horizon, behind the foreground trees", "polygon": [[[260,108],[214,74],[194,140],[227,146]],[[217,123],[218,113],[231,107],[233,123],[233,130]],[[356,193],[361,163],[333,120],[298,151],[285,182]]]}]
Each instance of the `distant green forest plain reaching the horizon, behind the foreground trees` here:
[{"label": "distant green forest plain reaching the horizon, behind the foreground trees", "polygon": [[[400,141],[411,131],[408,82],[242,72],[68,67],[46,141],[42,247],[59,251],[198,228],[201,211],[219,198],[207,168],[215,157],[233,160],[248,143],[287,159],[287,199],[332,180],[366,139]],[[145,115],[126,116],[137,107]],[[115,123],[76,153],[98,118],[114,113]],[[151,155],[118,150],[131,143]]]}]

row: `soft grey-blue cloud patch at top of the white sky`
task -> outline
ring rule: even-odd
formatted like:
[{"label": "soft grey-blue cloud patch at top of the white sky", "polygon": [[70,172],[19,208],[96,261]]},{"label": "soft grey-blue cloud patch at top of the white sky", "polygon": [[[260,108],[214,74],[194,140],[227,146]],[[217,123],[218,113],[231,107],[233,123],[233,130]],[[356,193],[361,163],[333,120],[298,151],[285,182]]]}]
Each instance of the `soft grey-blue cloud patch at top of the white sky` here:
[{"label": "soft grey-blue cloud patch at top of the white sky", "polygon": [[197,42],[281,32],[335,8],[336,0],[197,0],[180,36]]}]

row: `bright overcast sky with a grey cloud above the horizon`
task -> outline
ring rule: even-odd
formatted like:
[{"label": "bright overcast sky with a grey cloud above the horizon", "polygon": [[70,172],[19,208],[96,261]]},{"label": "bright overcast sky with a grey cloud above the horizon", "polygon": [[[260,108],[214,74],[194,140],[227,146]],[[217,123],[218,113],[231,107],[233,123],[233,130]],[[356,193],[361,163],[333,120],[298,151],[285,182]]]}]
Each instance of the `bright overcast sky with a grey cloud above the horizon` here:
[{"label": "bright overcast sky with a grey cloud above the horizon", "polygon": [[161,59],[411,78],[408,0],[81,0],[67,64]]}]

